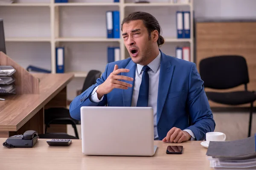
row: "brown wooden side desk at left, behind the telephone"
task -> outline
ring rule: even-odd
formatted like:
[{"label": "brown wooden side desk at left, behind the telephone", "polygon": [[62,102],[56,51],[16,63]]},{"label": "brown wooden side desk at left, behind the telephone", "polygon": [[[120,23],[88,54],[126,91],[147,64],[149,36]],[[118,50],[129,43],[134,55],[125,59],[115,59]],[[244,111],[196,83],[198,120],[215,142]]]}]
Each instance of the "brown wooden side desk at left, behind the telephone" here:
[{"label": "brown wooden side desk at left, behind the telephone", "polygon": [[39,79],[39,94],[20,94],[0,101],[0,137],[23,134],[26,130],[44,133],[44,108],[66,107],[66,86],[73,74],[33,74]]}]

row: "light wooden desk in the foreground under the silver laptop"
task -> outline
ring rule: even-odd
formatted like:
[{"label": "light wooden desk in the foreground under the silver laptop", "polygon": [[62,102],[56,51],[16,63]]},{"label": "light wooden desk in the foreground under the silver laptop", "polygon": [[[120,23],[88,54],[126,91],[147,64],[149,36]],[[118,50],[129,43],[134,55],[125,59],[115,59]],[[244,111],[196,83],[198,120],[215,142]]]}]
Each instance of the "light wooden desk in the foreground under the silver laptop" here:
[{"label": "light wooden desk in the foreground under the silver laptop", "polygon": [[[6,139],[1,138],[2,145]],[[206,156],[207,148],[200,141],[183,145],[181,155],[167,155],[168,145],[155,141],[157,151],[152,157],[144,156],[85,156],[81,140],[72,139],[70,146],[54,147],[38,139],[33,148],[0,147],[1,170],[211,170]],[[102,141],[104,142],[104,141]]]}]

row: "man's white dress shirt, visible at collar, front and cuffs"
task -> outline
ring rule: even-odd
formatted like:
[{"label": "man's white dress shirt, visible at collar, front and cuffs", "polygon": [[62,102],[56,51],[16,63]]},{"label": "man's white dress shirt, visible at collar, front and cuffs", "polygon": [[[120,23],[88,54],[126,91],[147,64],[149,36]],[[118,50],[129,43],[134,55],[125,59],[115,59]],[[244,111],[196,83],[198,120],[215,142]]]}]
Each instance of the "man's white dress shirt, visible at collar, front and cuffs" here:
[{"label": "man's white dress shirt, visible at collar, front and cuffs", "polygon": [[[160,74],[160,63],[161,63],[161,53],[159,51],[158,56],[148,64],[148,67],[150,68],[148,70],[148,76],[149,76],[149,91],[148,91],[148,107],[152,107],[154,111],[154,140],[159,140],[158,133],[157,133],[157,92],[158,92],[158,83],[159,83],[159,74]],[[133,87],[133,95],[131,100],[131,107],[137,106],[137,100],[139,96],[140,91],[140,84],[142,80],[143,75],[143,65],[137,64],[137,70],[135,71],[135,79],[134,79],[134,87]],[[92,102],[100,102],[103,99],[103,96],[101,99],[98,99],[97,96],[97,86],[93,89],[92,95],[91,95],[91,101]],[[191,140],[195,140],[195,135],[192,132],[192,130],[185,129],[184,131],[188,132],[192,138]]]}]

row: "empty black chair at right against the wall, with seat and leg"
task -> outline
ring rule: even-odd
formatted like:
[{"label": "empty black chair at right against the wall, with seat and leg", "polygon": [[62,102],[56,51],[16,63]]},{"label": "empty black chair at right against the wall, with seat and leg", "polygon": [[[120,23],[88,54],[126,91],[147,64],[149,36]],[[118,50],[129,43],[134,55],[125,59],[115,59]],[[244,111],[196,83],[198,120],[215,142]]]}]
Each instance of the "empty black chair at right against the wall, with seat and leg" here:
[{"label": "empty black chair at right against the wall, with seat and leg", "polygon": [[250,137],[253,115],[253,102],[256,94],[247,91],[249,83],[247,63],[244,57],[236,55],[223,55],[202,59],[199,63],[201,79],[204,87],[212,89],[229,89],[244,84],[244,91],[233,92],[207,92],[207,98],[213,102],[226,105],[242,105],[250,103],[250,119],[248,137]]}]

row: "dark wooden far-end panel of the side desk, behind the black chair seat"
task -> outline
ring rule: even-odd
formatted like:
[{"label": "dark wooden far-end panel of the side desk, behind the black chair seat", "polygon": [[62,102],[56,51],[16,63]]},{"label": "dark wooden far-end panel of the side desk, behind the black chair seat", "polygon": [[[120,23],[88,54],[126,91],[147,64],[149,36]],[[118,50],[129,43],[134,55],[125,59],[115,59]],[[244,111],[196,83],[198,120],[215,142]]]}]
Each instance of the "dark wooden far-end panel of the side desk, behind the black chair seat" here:
[{"label": "dark wooden far-end panel of the side desk, behind the black chair seat", "polygon": [[[67,108],[67,87],[52,98],[44,108]],[[67,125],[50,125],[47,133],[67,133]]]}]

